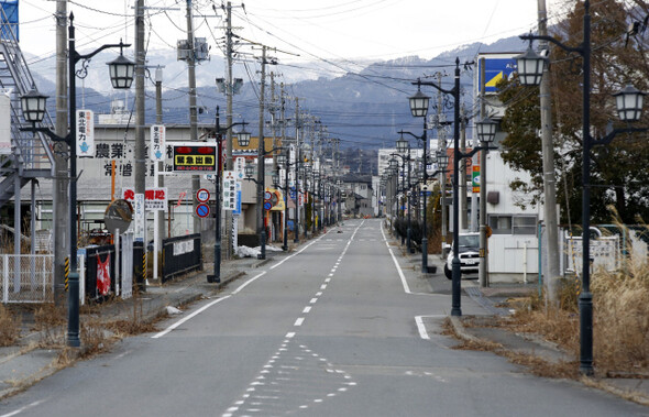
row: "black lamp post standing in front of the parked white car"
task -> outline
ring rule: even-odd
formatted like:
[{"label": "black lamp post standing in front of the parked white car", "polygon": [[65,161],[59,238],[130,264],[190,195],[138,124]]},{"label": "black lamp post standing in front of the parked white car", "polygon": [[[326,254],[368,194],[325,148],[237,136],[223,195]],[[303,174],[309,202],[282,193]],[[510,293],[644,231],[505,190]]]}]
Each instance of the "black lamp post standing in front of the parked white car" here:
[{"label": "black lamp post standing in front of the parked white car", "polygon": [[[417,94],[410,97],[410,110],[413,116],[415,117],[426,117],[428,111],[428,99],[425,97],[419,90],[421,86],[431,86],[435,89],[441,91],[442,94],[449,95],[453,97],[453,261],[452,261],[452,307],[451,307],[451,316],[462,316],[462,308],[461,308],[461,300],[460,300],[460,292],[461,292],[461,271],[460,271],[460,257],[458,248],[460,245],[460,216],[459,216],[459,185],[460,180],[460,173],[459,173],[459,165],[460,161],[465,157],[473,156],[476,152],[482,151],[485,149],[484,145],[474,147],[471,152],[463,153],[460,151],[460,58],[455,58],[455,74],[454,74],[454,86],[452,89],[448,90],[444,88],[439,87],[437,84],[430,81],[421,81],[417,79]],[[419,105],[426,106],[426,111],[422,111],[419,108]],[[426,129],[424,130],[424,134],[426,135]],[[484,142],[483,142],[484,144]],[[488,146],[486,147],[488,149]],[[424,166],[426,167],[426,151],[424,152]],[[464,177],[463,173],[463,177]],[[426,175],[425,175],[426,176]]]}]

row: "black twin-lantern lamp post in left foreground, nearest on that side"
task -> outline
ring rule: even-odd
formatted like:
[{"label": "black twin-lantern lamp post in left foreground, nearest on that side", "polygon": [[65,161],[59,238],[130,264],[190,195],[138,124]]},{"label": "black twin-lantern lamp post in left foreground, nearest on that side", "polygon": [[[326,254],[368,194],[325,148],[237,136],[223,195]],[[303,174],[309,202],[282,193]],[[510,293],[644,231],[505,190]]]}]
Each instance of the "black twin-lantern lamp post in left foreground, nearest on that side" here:
[{"label": "black twin-lantern lamp post in left foreground, nearest on that side", "polygon": [[128,89],[131,88],[133,83],[133,73],[135,64],[129,61],[122,55],[123,48],[131,46],[120,42],[119,44],[107,44],[98,47],[89,54],[79,54],[75,45],[75,15],[69,15],[69,28],[68,28],[68,83],[69,83],[69,132],[65,136],[58,136],[52,132],[48,128],[36,128],[36,123],[43,121],[45,116],[45,101],[46,96],[43,96],[35,90],[28,92],[21,97],[21,110],[23,117],[28,122],[32,123],[31,128],[21,128],[22,131],[29,132],[41,132],[46,134],[50,139],[55,142],[65,142],[69,147],[69,161],[70,161],[70,185],[69,185],[69,245],[70,245],[70,273],[68,275],[69,293],[68,293],[68,331],[67,331],[67,344],[73,348],[78,348],[81,344],[79,340],[79,273],[77,272],[77,87],[76,77],[85,74],[78,74],[76,72],[76,64],[84,59],[88,62],[91,57],[97,55],[103,50],[119,47],[120,56],[108,63],[109,74],[113,88]]}]

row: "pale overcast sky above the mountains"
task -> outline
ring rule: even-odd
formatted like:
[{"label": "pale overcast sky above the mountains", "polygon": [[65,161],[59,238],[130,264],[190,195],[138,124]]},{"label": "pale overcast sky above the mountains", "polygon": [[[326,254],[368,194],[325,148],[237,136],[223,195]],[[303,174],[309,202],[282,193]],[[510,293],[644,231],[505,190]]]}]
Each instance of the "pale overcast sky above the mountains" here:
[{"label": "pale overcast sky above the mountains", "polygon": [[[551,18],[564,10],[548,0]],[[76,0],[77,48],[133,41],[134,0]],[[148,48],[174,48],[186,37],[184,0],[146,0]],[[223,11],[220,0],[194,0],[197,36],[222,56]],[[212,10],[217,7],[218,13]],[[235,33],[294,54],[299,59],[389,59],[419,55],[430,58],[462,44],[528,32],[537,24],[537,0],[245,0],[233,1]],[[54,53],[53,0],[20,0],[21,47],[40,56]],[[176,10],[161,10],[174,8]],[[96,42],[92,45],[92,42]],[[298,59],[285,55],[283,59]]]}]

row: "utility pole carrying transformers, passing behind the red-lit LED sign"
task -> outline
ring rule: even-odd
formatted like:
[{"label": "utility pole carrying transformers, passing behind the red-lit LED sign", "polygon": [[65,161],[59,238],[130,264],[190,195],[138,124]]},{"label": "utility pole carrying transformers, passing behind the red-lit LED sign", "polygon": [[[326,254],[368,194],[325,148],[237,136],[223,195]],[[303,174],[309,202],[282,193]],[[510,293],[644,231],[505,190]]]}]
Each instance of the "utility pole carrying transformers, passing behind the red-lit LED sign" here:
[{"label": "utility pole carrying transformers, passing behind the red-lit LED sign", "polygon": [[[139,0],[142,1],[142,0]],[[187,0],[187,47],[189,54],[187,55],[187,70],[189,77],[189,140],[191,142],[198,142],[198,116],[196,108],[196,51],[194,45],[194,22],[191,13],[191,0]],[[200,189],[200,176],[191,176],[191,212],[196,212],[198,207],[197,191]],[[194,233],[200,233],[200,218],[193,216],[194,218]]]}]

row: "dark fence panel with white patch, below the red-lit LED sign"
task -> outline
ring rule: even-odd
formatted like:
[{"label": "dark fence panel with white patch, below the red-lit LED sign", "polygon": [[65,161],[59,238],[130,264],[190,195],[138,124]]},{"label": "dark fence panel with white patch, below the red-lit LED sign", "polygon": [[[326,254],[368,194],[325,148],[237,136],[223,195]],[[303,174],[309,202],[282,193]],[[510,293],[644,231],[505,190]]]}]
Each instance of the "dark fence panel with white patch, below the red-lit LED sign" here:
[{"label": "dark fence panel with white patch, below the red-lit LED sign", "polygon": [[163,239],[163,283],[202,267],[200,242],[200,233]]}]

